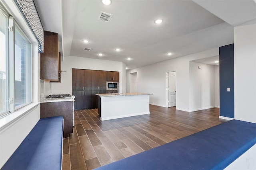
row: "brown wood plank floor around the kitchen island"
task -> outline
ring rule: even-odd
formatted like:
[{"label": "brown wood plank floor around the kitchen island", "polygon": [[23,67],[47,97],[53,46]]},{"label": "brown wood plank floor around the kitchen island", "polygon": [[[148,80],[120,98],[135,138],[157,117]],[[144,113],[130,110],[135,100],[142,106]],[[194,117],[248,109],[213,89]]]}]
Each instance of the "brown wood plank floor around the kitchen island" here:
[{"label": "brown wood plank floor around the kitchen island", "polygon": [[75,111],[64,139],[63,170],[91,170],[225,122],[219,109],[194,112],[150,105],[149,115],[100,121],[97,109]]}]

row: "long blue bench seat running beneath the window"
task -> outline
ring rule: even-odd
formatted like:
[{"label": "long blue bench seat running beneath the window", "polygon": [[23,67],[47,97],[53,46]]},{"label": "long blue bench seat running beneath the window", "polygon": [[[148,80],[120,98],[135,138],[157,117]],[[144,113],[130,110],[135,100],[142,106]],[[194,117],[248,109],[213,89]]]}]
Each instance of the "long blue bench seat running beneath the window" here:
[{"label": "long blue bench seat running beneath the window", "polygon": [[61,170],[63,117],[36,123],[1,170]]}]

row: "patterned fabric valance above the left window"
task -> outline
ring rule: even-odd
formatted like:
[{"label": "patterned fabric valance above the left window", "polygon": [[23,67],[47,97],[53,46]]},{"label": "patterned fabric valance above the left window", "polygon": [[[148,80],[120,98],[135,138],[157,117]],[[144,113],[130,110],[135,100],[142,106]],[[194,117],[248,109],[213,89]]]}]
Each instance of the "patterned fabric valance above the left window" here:
[{"label": "patterned fabric valance above the left window", "polygon": [[36,6],[33,0],[16,0],[20,11],[26,18],[28,25],[30,25],[36,39],[38,41],[38,52],[44,52],[44,29],[40,18],[38,16]]}]

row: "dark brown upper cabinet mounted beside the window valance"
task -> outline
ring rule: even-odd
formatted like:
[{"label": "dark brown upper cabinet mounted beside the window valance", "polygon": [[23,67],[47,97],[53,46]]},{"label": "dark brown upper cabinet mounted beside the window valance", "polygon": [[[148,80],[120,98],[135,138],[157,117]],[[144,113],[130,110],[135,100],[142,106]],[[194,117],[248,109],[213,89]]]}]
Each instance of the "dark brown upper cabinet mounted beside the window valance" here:
[{"label": "dark brown upper cabinet mounted beside the window valance", "polygon": [[44,31],[44,53],[40,53],[40,79],[60,82],[58,33]]}]

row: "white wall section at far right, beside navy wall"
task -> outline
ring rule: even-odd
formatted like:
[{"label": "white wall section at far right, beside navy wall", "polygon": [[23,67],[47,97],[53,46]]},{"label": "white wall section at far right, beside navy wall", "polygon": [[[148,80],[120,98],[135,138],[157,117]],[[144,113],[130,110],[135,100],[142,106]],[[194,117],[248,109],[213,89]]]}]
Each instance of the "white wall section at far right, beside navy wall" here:
[{"label": "white wall section at far right, beside navy wall", "polygon": [[256,123],[256,24],[234,27],[234,118]]}]

